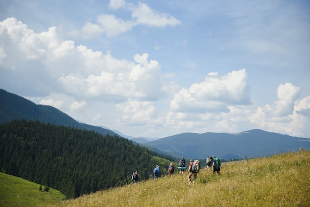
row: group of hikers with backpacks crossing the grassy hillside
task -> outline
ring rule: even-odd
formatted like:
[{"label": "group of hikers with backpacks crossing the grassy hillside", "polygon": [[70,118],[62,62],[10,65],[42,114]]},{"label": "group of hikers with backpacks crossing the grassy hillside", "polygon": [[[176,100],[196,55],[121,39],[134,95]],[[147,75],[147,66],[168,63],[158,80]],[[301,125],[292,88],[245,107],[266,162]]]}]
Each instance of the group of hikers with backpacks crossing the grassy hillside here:
[{"label": "group of hikers with backpacks crossing the grassy hillside", "polygon": [[[180,171],[180,175],[184,174],[184,170],[186,169],[186,161],[185,158],[182,157],[179,160],[179,171]],[[213,174],[217,173],[218,175],[220,175],[220,168],[221,168],[221,162],[219,160],[219,158],[217,158],[215,155],[213,156],[208,156],[207,160],[206,160],[206,164],[207,164],[207,169],[213,169]],[[192,181],[193,181],[193,185],[195,185],[196,179],[197,179],[197,173],[200,170],[200,161],[199,160],[190,160],[190,164],[189,164],[189,168],[187,171],[187,179],[188,179],[188,185],[191,185]],[[153,170],[153,174],[154,174],[154,180],[156,178],[159,177],[159,166],[156,165],[156,167]],[[168,175],[169,177],[171,177],[174,173],[174,166],[173,163],[171,162],[169,167],[168,167]],[[139,174],[138,172],[133,172],[132,173],[132,179],[134,181],[134,184],[137,183],[138,179],[139,179]]]}]

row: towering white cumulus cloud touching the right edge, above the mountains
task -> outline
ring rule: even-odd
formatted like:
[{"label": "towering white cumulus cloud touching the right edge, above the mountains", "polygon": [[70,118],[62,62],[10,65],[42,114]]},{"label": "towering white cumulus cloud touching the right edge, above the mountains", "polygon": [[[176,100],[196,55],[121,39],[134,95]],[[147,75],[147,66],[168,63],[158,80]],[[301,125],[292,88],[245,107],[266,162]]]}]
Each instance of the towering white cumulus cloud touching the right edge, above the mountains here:
[{"label": "towering white cumulus cloud touching the right edge, above the mountains", "polygon": [[249,115],[251,123],[266,131],[309,137],[303,130],[310,122],[310,96],[298,100],[300,88],[291,83],[280,84],[277,95],[274,104],[253,110]]}]

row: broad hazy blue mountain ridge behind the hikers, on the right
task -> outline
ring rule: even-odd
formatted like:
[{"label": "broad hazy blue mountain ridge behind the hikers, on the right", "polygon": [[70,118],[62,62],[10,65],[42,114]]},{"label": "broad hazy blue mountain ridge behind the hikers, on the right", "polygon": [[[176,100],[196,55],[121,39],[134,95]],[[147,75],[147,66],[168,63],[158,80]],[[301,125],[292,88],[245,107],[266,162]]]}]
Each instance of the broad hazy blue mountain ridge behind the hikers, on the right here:
[{"label": "broad hazy blue mountain ridge behind the hikers, on the right", "polygon": [[183,133],[148,142],[162,152],[175,152],[187,158],[206,159],[209,155],[219,158],[242,159],[297,152],[310,149],[310,139],[292,137],[259,129],[228,133]]}]

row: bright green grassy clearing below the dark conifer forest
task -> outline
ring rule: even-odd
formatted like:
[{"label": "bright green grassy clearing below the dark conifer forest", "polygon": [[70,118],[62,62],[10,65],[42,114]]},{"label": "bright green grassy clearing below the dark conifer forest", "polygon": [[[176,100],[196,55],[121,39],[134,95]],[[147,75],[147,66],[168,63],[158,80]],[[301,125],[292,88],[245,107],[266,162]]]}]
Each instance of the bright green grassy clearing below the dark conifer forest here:
[{"label": "bright green grassy clearing below the dark conifer forest", "polygon": [[0,172],[0,207],[43,207],[65,198],[59,191]]}]

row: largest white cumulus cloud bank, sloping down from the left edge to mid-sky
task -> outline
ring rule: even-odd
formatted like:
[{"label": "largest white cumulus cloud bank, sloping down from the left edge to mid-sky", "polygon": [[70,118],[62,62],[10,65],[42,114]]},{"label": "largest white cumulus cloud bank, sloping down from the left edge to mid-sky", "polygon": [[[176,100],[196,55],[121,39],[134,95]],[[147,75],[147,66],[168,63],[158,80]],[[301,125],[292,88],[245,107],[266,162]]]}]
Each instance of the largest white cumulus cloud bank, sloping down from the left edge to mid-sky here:
[{"label": "largest white cumulus cloud bank, sloping down from the left edge to mid-sky", "polygon": [[[163,93],[160,65],[155,60],[149,61],[147,53],[136,54],[135,62],[118,60],[109,52],[94,52],[85,46],[75,47],[73,41],[61,40],[55,28],[36,34],[15,18],[8,18],[0,25],[1,40],[11,40],[8,41],[10,45],[2,46],[2,53],[14,57],[2,59],[1,71],[11,76],[10,81],[22,82],[24,90],[33,91],[34,78],[30,75],[40,75],[40,86],[52,83],[47,88],[55,85],[53,91],[65,90],[65,93],[79,97],[79,100],[100,96],[107,100],[115,96],[156,100]],[[29,57],[32,53],[36,55]],[[34,64],[37,66],[32,67]],[[8,72],[12,65],[15,72]],[[27,78],[25,74],[28,74]],[[3,76],[1,80],[5,81]],[[73,108],[77,104],[74,105]]]}]

